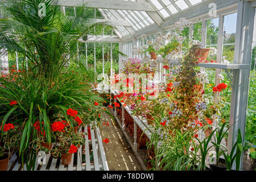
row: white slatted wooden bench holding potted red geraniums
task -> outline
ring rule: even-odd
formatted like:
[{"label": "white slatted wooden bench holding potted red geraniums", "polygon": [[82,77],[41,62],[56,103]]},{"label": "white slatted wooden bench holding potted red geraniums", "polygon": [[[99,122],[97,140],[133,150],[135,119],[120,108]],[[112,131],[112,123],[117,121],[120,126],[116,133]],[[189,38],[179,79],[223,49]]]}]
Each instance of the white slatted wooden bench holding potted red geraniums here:
[{"label": "white slatted wooden bench holding potted red geraniums", "polygon": [[[47,154],[45,164],[38,163],[40,156],[36,158],[35,171],[109,171],[100,130],[98,127],[92,125],[88,126],[90,128],[91,139],[89,140],[88,135],[85,135],[85,145],[84,147],[81,146],[77,150],[77,153],[72,155],[71,164],[64,166],[61,164],[60,158],[53,159],[50,154]],[[81,127],[80,132],[84,130],[85,133],[87,133],[88,126]],[[84,148],[85,151],[82,151],[82,148]],[[89,151],[89,148],[92,148],[92,150]],[[14,154],[10,159],[8,170],[26,171],[26,165],[24,165],[23,169],[18,163],[17,154]]]}]

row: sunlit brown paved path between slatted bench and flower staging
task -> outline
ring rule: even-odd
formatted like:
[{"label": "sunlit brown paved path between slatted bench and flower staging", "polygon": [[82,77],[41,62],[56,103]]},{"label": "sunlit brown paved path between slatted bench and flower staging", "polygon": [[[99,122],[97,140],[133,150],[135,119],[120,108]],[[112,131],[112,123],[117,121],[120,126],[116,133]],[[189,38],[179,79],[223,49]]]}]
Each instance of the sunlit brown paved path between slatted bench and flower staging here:
[{"label": "sunlit brown paved path between slatted bench and flower staging", "polygon": [[104,143],[106,159],[108,160],[110,171],[140,171],[141,165],[134,156],[133,150],[129,143],[126,142],[125,136],[113,119],[108,114],[102,114],[103,122],[109,121],[109,126],[102,125],[101,137],[108,138],[109,143]]}]

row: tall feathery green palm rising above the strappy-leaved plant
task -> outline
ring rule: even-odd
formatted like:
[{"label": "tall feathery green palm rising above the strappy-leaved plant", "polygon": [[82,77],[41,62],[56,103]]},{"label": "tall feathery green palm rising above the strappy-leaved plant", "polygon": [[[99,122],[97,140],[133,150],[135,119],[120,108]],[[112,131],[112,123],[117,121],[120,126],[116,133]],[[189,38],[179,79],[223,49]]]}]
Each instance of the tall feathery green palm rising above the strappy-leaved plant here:
[{"label": "tall feathery green palm rising above the strappy-leaved plant", "polygon": [[[40,5],[45,9],[40,9]],[[65,16],[54,0],[4,0],[0,19],[0,49],[27,57],[38,75],[49,81],[59,76],[77,52],[77,42],[94,26],[94,10],[76,8],[76,16]],[[44,15],[40,15],[44,11]]]}]

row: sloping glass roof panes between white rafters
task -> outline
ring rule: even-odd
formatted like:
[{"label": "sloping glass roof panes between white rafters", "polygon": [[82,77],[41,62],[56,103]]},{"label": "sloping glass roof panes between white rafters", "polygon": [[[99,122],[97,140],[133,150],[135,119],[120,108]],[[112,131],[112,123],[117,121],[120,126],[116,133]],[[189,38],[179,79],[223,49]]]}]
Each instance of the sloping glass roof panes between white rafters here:
[{"label": "sloping glass roof panes between white rafters", "polygon": [[[123,0],[123,1],[138,1],[138,0]],[[141,0],[139,0],[141,1]],[[192,6],[207,0],[144,0],[155,9],[161,19],[170,18],[172,15],[187,10]],[[154,17],[147,14],[146,11],[131,11],[131,10],[108,10],[99,9],[101,14],[107,19],[126,20],[130,23],[130,27],[116,26],[115,33],[122,38],[123,36],[133,34],[154,24]]]}]

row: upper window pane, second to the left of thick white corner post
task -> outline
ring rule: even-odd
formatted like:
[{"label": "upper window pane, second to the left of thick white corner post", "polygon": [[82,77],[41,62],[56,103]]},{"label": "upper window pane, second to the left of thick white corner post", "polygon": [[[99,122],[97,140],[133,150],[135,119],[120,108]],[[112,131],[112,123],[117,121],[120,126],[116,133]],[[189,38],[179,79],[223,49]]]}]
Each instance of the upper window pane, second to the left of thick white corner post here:
[{"label": "upper window pane, second to the left of thick white corner post", "polygon": [[214,18],[207,21],[207,46],[217,46],[218,20],[219,18]]}]

